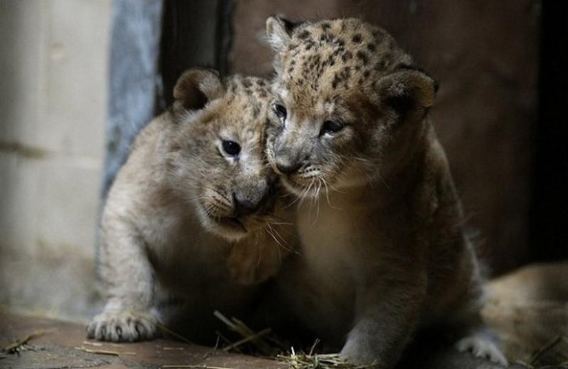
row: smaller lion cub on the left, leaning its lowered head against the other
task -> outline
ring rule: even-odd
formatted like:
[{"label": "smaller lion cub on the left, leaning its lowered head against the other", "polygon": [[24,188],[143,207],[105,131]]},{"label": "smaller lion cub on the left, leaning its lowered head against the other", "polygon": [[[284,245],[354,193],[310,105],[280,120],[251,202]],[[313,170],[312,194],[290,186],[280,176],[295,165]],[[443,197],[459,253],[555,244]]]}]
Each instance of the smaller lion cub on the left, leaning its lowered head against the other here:
[{"label": "smaller lion cub on the left, leaning its lowered head against the other", "polygon": [[246,317],[258,282],[280,268],[281,244],[292,242],[264,156],[268,83],[189,70],[173,96],[109,192],[101,221],[108,302],[89,337],[151,339],[162,322],[207,342],[213,310]]}]

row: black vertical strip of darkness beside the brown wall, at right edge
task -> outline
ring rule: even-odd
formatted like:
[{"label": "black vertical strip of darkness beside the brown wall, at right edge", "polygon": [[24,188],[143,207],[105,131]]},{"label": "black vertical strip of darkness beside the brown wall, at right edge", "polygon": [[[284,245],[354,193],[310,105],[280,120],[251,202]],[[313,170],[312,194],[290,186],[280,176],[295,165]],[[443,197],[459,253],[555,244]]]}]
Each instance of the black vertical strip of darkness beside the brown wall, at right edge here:
[{"label": "black vertical strip of darkness beside the brown wall, at right edge", "polygon": [[538,65],[538,123],[529,240],[534,260],[568,257],[568,4],[543,5]]}]

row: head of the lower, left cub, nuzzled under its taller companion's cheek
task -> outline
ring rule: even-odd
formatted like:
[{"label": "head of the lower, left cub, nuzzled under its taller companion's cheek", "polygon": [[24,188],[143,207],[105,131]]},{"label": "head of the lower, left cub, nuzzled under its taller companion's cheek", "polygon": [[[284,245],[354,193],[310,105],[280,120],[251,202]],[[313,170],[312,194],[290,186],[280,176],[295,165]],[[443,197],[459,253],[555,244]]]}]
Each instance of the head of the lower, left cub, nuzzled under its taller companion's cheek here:
[{"label": "head of the lower, left cub, nuzzled under its taller companion's cheek", "polygon": [[205,229],[229,240],[264,228],[273,213],[276,176],[264,156],[268,88],[262,78],[193,69],[173,90],[173,186]]}]

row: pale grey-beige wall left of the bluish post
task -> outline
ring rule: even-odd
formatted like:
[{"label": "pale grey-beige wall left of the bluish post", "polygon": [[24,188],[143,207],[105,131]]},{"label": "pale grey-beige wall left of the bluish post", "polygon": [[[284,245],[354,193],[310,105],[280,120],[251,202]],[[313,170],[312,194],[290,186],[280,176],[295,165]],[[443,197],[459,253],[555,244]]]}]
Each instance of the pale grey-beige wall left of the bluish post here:
[{"label": "pale grey-beige wall left of the bluish post", "polygon": [[111,8],[0,2],[0,304],[13,310],[96,310]]}]

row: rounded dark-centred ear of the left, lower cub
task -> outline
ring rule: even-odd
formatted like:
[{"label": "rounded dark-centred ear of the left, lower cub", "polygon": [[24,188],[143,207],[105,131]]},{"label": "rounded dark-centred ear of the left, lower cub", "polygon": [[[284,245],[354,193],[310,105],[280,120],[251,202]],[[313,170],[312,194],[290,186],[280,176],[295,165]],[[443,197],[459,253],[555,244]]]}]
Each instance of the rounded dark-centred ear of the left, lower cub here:
[{"label": "rounded dark-centred ear of the left, lower cub", "polygon": [[222,96],[224,92],[219,72],[210,69],[192,68],[185,71],[176,87],[173,98],[176,105],[187,110],[202,109],[209,101]]}]

